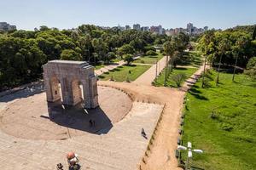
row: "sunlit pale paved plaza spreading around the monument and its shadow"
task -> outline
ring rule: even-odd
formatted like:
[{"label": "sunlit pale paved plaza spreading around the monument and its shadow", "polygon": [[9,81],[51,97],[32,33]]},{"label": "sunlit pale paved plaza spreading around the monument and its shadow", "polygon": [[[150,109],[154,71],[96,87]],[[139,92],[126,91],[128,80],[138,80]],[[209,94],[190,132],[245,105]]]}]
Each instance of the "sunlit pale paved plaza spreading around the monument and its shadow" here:
[{"label": "sunlit pale paved plaza spreading around the monument and its shadow", "polygon": [[[163,109],[163,105],[131,103],[127,94],[117,89],[99,87],[99,104],[113,127],[103,126],[101,130],[92,132],[86,131],[90,127],[85,122],[85,129],[76,129],[58,125],[38,115],[40,111],[45,114],[42,105],[46,103],[44,92],[40,92],[41,89],[30,88],[0,98],[1,169],[49,170],[55,169],[59,162],[67,167],[66,154],[71,150],[79,154],[83,169],[136,169],[148,144],[148,139],[141,136],[142,127],[150,137]],[[109,99],[113,102],[110,105],[113,109],[104,104],[108,95],[106,92],[113,94]],[[119,101],[125,104],[120,105]],[[32,115],[33,111],[36,114]],[[118,116],[119,112],[123,115]],[[15,114],[20,119],[12,116]]]}]

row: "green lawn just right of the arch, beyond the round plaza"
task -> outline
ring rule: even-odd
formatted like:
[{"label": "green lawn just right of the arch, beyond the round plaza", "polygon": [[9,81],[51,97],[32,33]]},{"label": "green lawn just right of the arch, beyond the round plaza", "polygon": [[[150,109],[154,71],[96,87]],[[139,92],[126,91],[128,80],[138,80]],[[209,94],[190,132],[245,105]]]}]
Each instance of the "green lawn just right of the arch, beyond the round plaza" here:
[{"label": "green lawn just right of the arch, beyond the round plaza", "polygon": [[[109,80],[113,77],[114,81],[125,82],[127,77],[130,81],[134,81],[150,68],[150,65],[122,65],[112,71],[103,73],[99,78],[101,80]],[[129,73],[131,71],[131,73]]]}]

